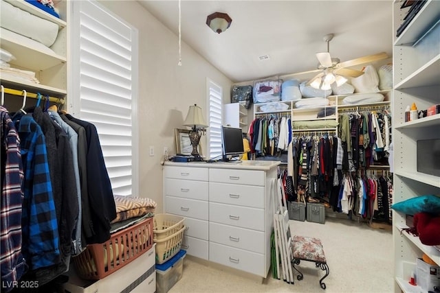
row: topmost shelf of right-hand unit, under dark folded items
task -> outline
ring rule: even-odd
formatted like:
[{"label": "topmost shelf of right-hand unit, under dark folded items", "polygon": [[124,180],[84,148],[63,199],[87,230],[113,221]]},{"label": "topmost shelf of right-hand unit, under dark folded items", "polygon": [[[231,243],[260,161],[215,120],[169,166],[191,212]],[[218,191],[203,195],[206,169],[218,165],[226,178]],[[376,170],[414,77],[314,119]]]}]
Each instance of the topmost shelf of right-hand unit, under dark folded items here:
[{"label": "topmost shelf of right-hand unit, under dark folded items", "polygon": [[[393,45],[412,45],[432,25],[432,19],[437,19],[440,10],[440,1],[430,0],[423,5],[419,13],[401,33]],[[423,15],[423,16],[422,16]]]}]

